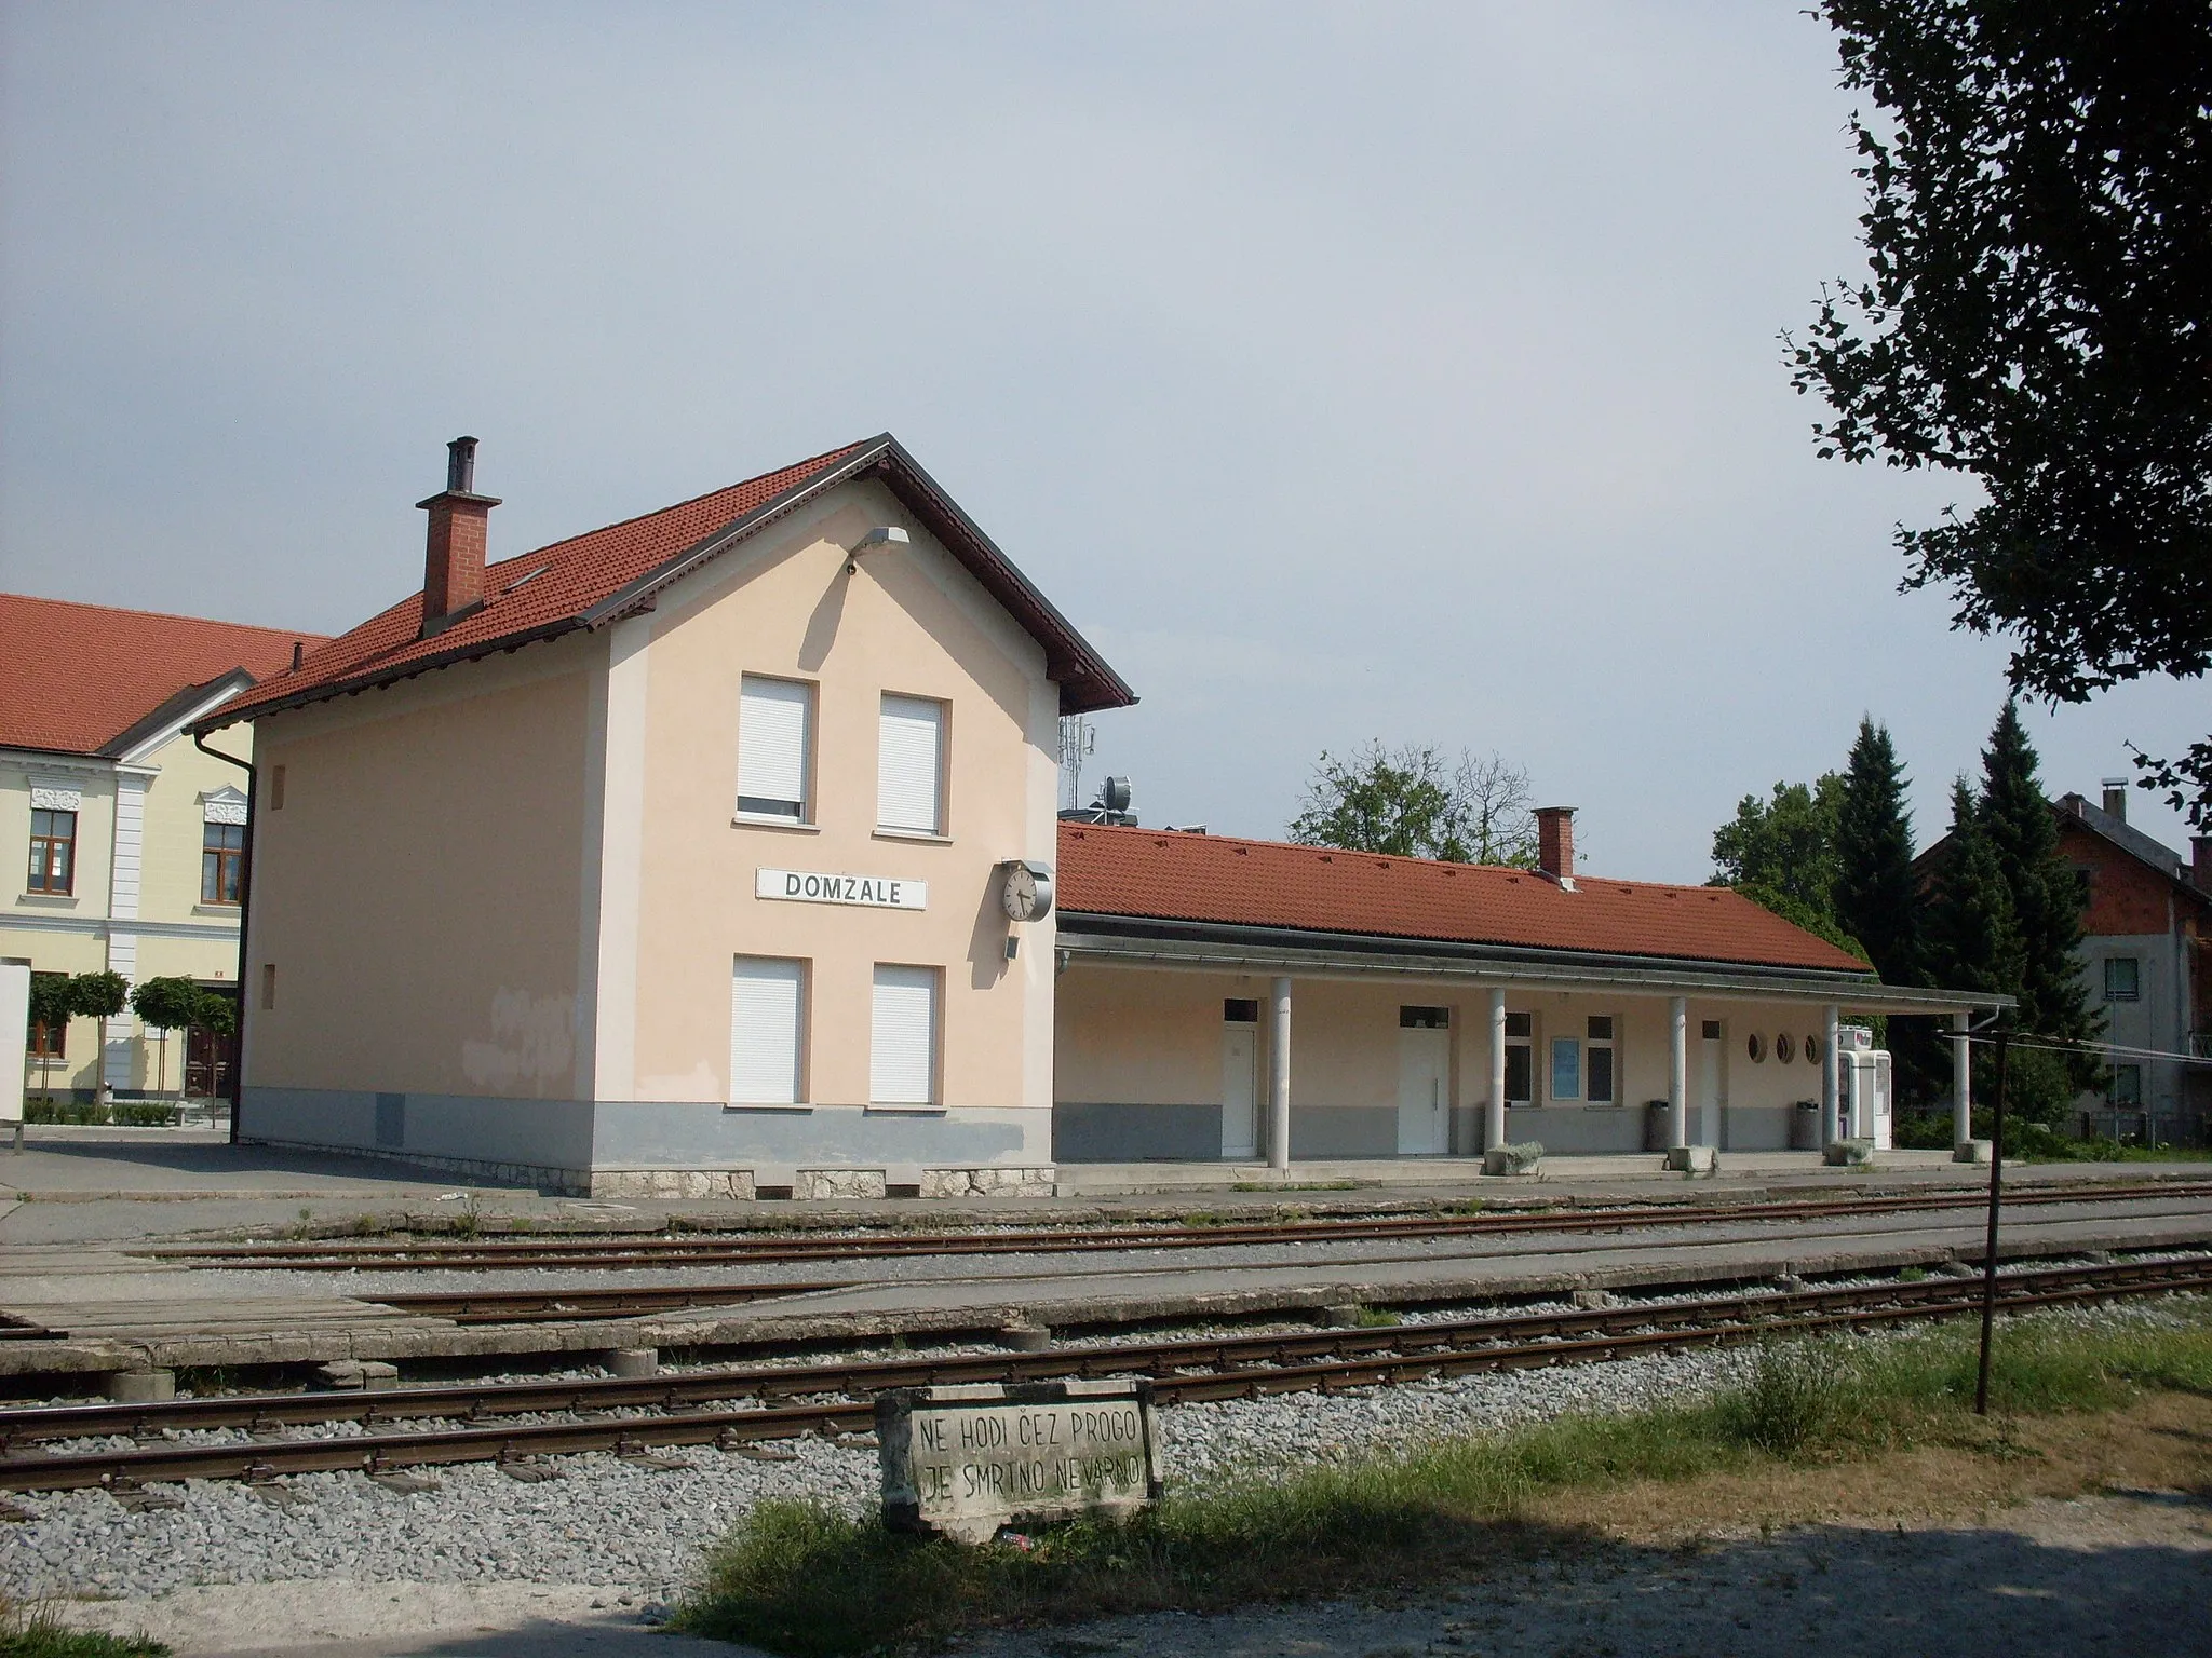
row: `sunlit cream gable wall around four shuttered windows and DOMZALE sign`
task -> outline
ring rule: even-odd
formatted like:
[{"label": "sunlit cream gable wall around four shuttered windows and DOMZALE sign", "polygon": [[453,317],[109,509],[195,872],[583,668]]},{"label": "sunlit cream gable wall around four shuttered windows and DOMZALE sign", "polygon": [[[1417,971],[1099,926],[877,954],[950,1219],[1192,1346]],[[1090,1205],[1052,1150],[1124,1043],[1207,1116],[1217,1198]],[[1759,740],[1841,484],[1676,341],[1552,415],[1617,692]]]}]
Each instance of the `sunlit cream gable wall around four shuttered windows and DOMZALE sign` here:
[{"label": "sunlit cream gable wall around four shuttered windows and DOMZALE sign", "polygon": [[[905,526],[914,546],[869,553],[847,575],[845,548],[874,524]],[[732,822],[743,674],[816,688],[810,829]],[[635,692],[617,681],[606,710],[608,776],[624,774],[624,741],[644,756],[639,796],[611,785],[606,802],[608,847],[637,825],[635,869],[611,860],[599,898],[606,937],[635,906],[635,984],[602,977],[602,1048],[633,1054],[615,1085],[728,1099],[730,962],[770,955],[812,964],[810,1103],[867,1103],[872,975],[887,962],[942,970],[947,1108],[1051,1105],[1053,928],[1015,928],[1009,964],[993,871],[1053,858],[1057,694],[1042,648],[887,489],[836,491],[668,595],[626,736]],[[885,692],[947,703],[942,840],[876,831]],[[761,867],[927,880],[929,909],[759,900]],[[599,1079],[608,1096],[604,1063]]]}]

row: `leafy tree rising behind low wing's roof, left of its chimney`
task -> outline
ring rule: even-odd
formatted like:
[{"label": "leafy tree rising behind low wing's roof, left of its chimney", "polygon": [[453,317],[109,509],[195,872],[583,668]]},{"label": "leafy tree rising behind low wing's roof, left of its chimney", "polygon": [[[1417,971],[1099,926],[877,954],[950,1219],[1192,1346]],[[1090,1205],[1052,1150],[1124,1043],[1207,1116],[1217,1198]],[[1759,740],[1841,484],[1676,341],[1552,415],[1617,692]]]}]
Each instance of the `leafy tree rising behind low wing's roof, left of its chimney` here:
[{"label": "leafy tree rising behind low wing's roof, left of its chimney", "polygon": [[1535,864],[1528,774],[1500,756],[1475,758],[1409,743],[1336,756],[1323,752],[1290,838],[1453,864]]}]

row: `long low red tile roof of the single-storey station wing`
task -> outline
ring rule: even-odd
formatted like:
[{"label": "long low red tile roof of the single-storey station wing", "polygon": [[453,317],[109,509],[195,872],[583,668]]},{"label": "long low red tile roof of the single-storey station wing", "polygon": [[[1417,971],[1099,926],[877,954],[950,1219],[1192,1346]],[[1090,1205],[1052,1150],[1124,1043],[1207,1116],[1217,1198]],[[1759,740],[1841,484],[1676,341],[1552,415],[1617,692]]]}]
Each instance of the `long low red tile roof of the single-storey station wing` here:
[{"label": "long low red tile roof of the single-storey station wing", "polygon": [[1577,875],[1568,893],[1524,869],[1077,822],[1055,886],[1077,915],[1867,973],[1725,886]]}]

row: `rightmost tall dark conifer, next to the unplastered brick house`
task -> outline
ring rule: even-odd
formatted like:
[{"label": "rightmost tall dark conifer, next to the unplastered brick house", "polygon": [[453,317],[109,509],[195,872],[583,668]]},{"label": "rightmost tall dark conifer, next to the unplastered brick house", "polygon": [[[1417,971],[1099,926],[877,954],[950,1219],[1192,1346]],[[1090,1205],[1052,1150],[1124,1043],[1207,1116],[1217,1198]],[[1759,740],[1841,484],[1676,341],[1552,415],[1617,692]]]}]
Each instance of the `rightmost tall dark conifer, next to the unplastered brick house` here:
[{"label": "rightmost tall dark conifer, next to the unplastered brick house", "polygon": [[[2020,1030],[2059,1041],[2095,1041],[2104,1019],[2081,977],[2081,878],[2059,853],[2059,827],[2035,776],[2035,749],[2006,701],[1982,752],[1982,827],[2013,895],[2020,926]],[[2099,1074],[2090,1057],[2070,1063],[2077,1088]]]}]

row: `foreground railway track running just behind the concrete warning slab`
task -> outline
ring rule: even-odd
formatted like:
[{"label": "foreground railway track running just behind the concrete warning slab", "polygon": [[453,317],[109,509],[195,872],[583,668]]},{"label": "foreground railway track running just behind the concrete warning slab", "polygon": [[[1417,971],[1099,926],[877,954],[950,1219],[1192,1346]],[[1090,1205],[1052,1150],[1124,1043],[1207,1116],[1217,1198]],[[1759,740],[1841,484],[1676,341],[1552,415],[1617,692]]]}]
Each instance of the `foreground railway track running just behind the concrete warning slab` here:
[{"label": "foreground railway track running just behind the concrete warning slab", "polygon": [[[2117,1262],[2006,1273],[2004,1311],[2126,1295],[2208,1291],[2212,1260]],[[0,1410],[0,1490],[248,1479],[358,1470],[394,1475],[458,1461],[515,1461],[712,1444],[745,1448],[799,1435],[865,1433],[874,1397],[898,1386],[1146,1375],[1161,1404],[1387,1386],[1425,1377],[1624,1360],[1776,1333],[1880,1329],[1969,1313],[1975,1280],[1699,1298],[1650,1307],[1469,1318],[1387,1329],[1084,1344],[1044,1353],[969,1353],[807,1366],[752,1366],[641,1379],[498,1382],[378,1393],[285,1393],[161,1404],[73,1404]],[[732,1406],[732,1402],[750,1402]],[[701,1408],[706,1406],[706,1408]],[[644,1415],[613,1415],[613,1413]],[[526,1417],[566,1415],[564,1421]],[[460,1421],[398,1430],[403,1421]],[[283,1437],[354,1424],[358,1435]],[[250,1441],[148,1444],[157,1435],[246,1430]],[[58,1441],[122,1437],[128,1450],[49,1452]]]}]

